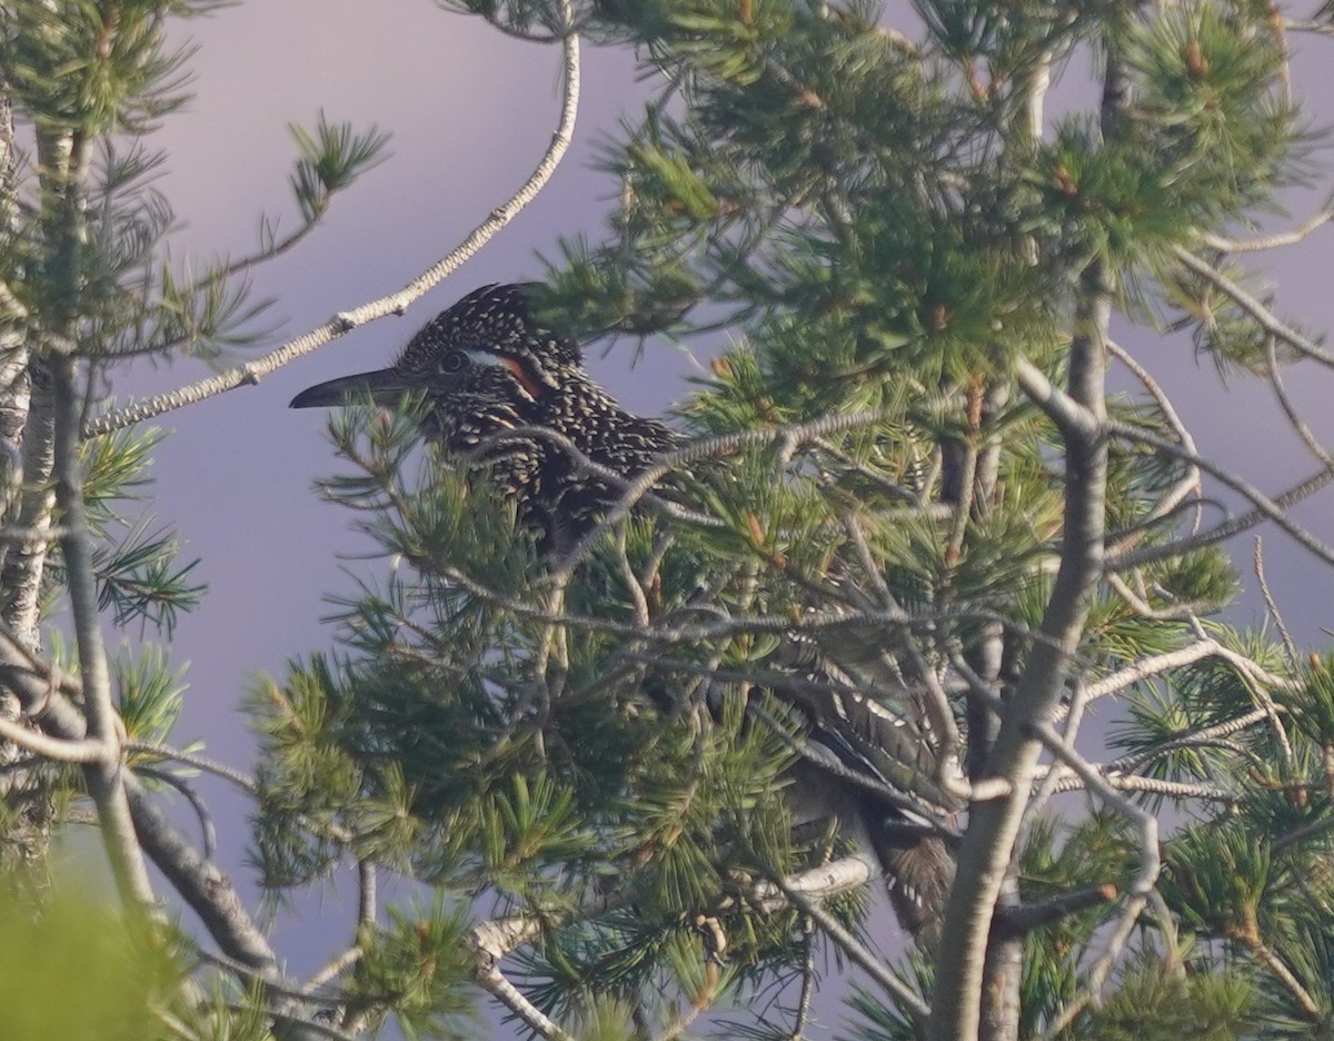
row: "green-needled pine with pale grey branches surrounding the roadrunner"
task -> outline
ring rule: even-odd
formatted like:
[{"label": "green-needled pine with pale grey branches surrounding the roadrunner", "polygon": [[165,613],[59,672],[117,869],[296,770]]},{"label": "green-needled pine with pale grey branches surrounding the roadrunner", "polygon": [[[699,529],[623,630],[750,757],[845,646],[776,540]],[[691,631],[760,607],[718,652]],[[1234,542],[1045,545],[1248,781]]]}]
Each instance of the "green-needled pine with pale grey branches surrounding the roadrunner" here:
[{"label": "green-needled pine with pale grey branches surrounding the roadrunner", "polygon": [[[171,1016],[199,1036],[480,1033],[479,990],[548,1038],[820,1036],[815,985],[846,966],[846,1032],[868,1041],[1327,1032],[1334,657],[1303,657],[1273,607],[1253,630],[1222,613],[1226,541],[1261,522],[1334,562],[1289,514],[1334,468],[1282,383],[1334,359],[1249,258],[1329,216],[1259,231],[1319,172],[1290,35],[1329,35],[1330,12],[920,0],[888,28],[815,0],[444,5],[560,41],[567,73],[576,32],[632,47],[662,84],[607,144],[619,204],[550,262],[540,319],[580,342],[726,330],[683,447],[552,559],[484,471],[419,451],[422,402],[331,420],[324,491],[384,578],[342,602],[334,650],[252,693],[245,783],[267,889],[351,861],[363,905],[317,986],[289,984],[164,830],[151,782],[193,758],[164,743],[165,659],[113,682],[95,625],[100,602],[169,635],[197,595],[168,535],[116,527],[153,435],[113,432],[195,398],[116,410],[104,380],[132,354],[232,347],[249,315],[236,271],[145,266],[167,214],[147,153],[112,148],[169,103],[160,17],[208,5],[4,4],[37,160],[11,168],[0,280],[24,460],[0,666],[32,725],[0,731],[21,781],[3,849],[40,858],[91,798],[121,900],[148,901],[147,854],[253,985],[181,986]],[[1095,100],[1047,119],[1057,77]],[[311,223],[382,139],[299,144]],[[1273,384],[1314,476],[1266,495],[1197,451],[1137,360],[1183,335]],[[1114,368],[1139,391],[1110,392]],[[1219,490],[1239,514],[1219,519]],[[39,637],[57,590],[77,683]],[[812,754],[836,699],[902,723],[867,783],[952,862],[916,936],[876,914],[846,819],[794,819],[812,777],[847,779]],[[1094,714],[1106,741],[1077,745]],[[376,873],[424,897],[378,908]]]}]

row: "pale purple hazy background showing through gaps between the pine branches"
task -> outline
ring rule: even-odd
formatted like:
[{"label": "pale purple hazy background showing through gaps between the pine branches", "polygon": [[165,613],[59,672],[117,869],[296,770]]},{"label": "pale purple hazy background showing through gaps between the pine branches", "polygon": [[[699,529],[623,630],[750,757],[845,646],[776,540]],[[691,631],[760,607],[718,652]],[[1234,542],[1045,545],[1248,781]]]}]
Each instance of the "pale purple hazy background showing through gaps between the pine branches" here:
[{"label": "pale purple hazy background showing through gaps between the pine branches", "polygon": [[[275,296],[271,314],[284,319],[265,346],[400,287],[447,252],[527,178],[555,127],[558,48],[504,37],[430,0],[256,0],[188,23],[185,31],[200,44],[191,63],[195,101],[152,141],[169,151],[169,172],[159,187],[187,223],[176,236],[180,250],[239,255],[253,247],[260,211],[293,222],[285,186],[288,123],[313,124],[323,108],[332,120],[378,123],[394,133],[391,159],[335,202],[325,227],[257,272],[257,292]],[[1319,71],[1314,61],[1307,65],[1305,85],[1319,96]],[[350,530],[346,511],[312,492],[313,479],[332,472],[335,460],[324,416],[289,411],[291,396],[311,383],[387,363],[431,315],[476,286],[538,275],[535,252],[555,256],[558,236],[602,238],[615,186],[591,169],[594,145],[615,131],[623,111],[634,116],[644,87],[636,85],[626,52],[592,47],[584,48],[583,77],[575,145],[551,186],[406,318],[363,328],[259,387],[157,420],[175,436],[155,464],[156,511],[179,526],[188,555],[203,558],[199,575],[209,583],[203,607],[181,618],[171,649],[177,665],[192,663],[177,739],[203,737],[212,754],[248,766],[237,706],[249,678],[256,671],[281,675],[289,657],[329,646],[329,630],[319,621],[328,611],[321,597],[352,590],[340,567],[383,573],[378,562],[340,561],[340,554],[370,547]],[[1302,196],[1298,216],[1315,202]],[[1311,330],[1329,327],[1334,316],[1329,243],[1317,235],[1273,268],[1283,287],[1281,311],[1301,315]],[[1234,380],[1225,392],[1211,363],[1197,364],[1179,339],[1159,343],[1133,332],[1125,346],[1177,395],[1206,454],[1237,466],[1266,491],[1314,468],[1258,382]],[[634,370],[628,355],[594,359],[595,371],[628,406],[656,412],[690,392],[682,382],[688,363],[678,348],[654,344]],[[141,395],[199,375],[188,363],[140,366],[117,391]],[[1321,403],[1330,399],[1334,380],[1311,366],[1289,380],[1307,407],[1329,414]],[[1334,424],[1326,422],[1323,434],[1334,435]],[[1326,537],[1334,534],[1329,495],[1297,515]],[[1243,554],[1249,559],[1249,538]],[[1266,537],[1266,561],[1299,638],[1315,639],[1322,626],[1334,627],[1327,570],[1274,531]],[[1251,589],[1254,581],[1246,585]],[[201,786],[209,795],[220,793],[208,782]],[[228,803],[219,826],[223,846],[236,850],[244,809]],[[239,868],[235,861],[227,866]],[[343,893],[352,892],[347,877]],[[316,912],[307,908],[304,914]],[[276,941],[281,953],[295,953],[289,934]],[[327,953],[301,953],[293,969],[309,969]]]}]

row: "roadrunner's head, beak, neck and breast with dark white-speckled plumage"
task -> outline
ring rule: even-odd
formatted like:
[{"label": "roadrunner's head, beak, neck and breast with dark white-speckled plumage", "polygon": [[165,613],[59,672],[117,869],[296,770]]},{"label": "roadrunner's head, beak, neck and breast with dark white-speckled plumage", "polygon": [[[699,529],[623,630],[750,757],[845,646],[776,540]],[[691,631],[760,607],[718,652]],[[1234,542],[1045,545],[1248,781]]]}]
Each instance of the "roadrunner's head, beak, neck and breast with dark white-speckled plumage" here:
[{"label": "roadrunner's head, beak, neck and breast with dark white-speckled plumage", "polygon": [[574,340],[543,328],[524,286],[484,286],[431,319],[388,370],[321,383],[293,407],[339,404],[367,390],[391,400],[424,392],[428,435],[450,452],[483,462],[519,519],[559,555],[620,496],[622,486],[579,454],[630,479],[679,438],[622,408],[583,368]]}]

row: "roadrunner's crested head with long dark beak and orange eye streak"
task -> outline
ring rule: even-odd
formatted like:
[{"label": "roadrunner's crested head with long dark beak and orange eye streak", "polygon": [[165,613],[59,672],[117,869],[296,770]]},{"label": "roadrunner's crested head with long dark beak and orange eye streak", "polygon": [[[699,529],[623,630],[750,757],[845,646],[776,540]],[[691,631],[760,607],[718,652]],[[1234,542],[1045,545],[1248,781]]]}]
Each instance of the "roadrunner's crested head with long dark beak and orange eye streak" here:
[{"label": "roadrunner's crested head with long dark beak and orange eye streak", "polygon": [[291,407],[396,404],[420,394],[431,435],[460,451],[500,430],[540,424],[551,399],[580,376],[583,356],[534,319],[532,288],[484,286],[423,326],[390,368],[309,387]]}]

